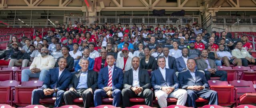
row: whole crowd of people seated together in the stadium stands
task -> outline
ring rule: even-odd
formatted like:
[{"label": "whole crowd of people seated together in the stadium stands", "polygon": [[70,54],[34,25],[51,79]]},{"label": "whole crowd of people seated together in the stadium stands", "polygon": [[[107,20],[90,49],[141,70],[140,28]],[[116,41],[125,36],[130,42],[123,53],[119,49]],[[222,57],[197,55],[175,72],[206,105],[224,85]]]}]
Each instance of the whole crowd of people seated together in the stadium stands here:
[{"label": "whole crowd of people seated together in the stadium stands", "polygon": [[0,55],[1,66],[29,66],[22,70],[22,82],[35,77],[44,81],[42,89],[33,91],[32,104],[54,96],[58,107],[81,96],[85,108],[92,102],[101,105],[102,97],[113,97],[113,106],[128,107],[129,98],[138,96],[151,106],[154,94],[160,107],[170,97],[196,108],[198,97],[218,104],[207,82],[210,77],[227,81],[227,72],[217,66],[256,64],[248,37],[232,36],[228,28],[218,37],[196,24],[100,27],[75,21],[40,34],[21,42],[13,36]]}]

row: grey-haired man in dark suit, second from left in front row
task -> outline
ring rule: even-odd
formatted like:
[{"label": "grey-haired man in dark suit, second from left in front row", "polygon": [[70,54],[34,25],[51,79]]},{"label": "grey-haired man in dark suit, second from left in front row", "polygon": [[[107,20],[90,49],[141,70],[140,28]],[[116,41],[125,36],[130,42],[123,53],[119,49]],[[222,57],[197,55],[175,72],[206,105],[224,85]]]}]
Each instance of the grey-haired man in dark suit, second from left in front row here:
[{"label": "grey-haired man in dark suit, second from left in front row", "polygon": [[75,98],[80,96],[83,98],[84,108],[89,108],[93,100],[93,92],[98,87],[98,73],[88,70],[89,60],[81,58],[78,63],[82,68],[74,73],[72,80],[68,86],[69,91],[64,93],[64,101],[66,105],[72,105]]}]

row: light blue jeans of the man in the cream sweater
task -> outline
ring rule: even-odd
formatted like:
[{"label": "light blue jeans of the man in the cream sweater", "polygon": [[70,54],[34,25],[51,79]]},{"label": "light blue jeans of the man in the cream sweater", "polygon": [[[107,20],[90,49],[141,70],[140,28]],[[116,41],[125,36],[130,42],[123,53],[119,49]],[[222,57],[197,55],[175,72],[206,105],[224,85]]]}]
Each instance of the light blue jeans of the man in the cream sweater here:
[{"label": "light blue jeans of the man in the cream sweater", "polygon": [[49,70],[41,70],[38,73],[31,73],[30,69],[24,69],[21,71],[21,82],[28,81],[30,77],[39,77],[39,81],[44,81],[46,73],[48,73],[48,71]]}]

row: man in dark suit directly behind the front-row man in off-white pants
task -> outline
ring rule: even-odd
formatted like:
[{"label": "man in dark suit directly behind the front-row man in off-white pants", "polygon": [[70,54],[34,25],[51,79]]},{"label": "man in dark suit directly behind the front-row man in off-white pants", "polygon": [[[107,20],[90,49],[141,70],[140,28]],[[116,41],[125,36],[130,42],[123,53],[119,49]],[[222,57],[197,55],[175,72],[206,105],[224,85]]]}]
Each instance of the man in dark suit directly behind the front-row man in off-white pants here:
[{"label": "man in dark suit directly behind the front-row man in off-white pants", "polygon": [[175,60],[174,57],[169,56],[169,52],[170,51],[169,51],[169,49],[167,47],[163,48],[164,58],[166,60],[165,68],[173,69],[174,72],[176,72],[177,71],[176,60]]}]

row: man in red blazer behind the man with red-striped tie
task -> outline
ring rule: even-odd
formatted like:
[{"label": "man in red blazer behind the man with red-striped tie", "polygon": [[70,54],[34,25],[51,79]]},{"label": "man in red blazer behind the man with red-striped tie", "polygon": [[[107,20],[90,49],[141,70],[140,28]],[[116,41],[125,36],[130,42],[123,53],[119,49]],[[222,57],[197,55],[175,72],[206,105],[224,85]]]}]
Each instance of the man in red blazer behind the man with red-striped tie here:
[{"label": "man in red blazer behind the man with red-striped tie", "polygon": [[100,69],[108,66],[107,62],[106,62],[106,55],[107,55],[107,50],[106,49],[101,49],[100,50],[100,57],[95,58],[94,61],[94,67],[93,70],[96,72],[99,72]]}]

